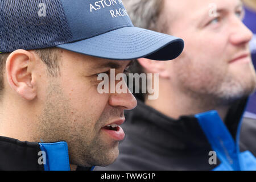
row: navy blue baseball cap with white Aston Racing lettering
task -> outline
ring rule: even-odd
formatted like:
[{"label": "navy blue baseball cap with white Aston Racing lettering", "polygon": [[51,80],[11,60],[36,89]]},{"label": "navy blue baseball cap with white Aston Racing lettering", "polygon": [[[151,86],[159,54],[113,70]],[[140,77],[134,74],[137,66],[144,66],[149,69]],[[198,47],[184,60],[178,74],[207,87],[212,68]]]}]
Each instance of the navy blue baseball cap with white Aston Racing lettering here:
[{"label": "navy blue baseball cap with white Aston Racing lettering", "polygon": [[112,60],[172,60],[184,42],[134,27],[121,0],[0,1],[0,52],[48,47]]}]

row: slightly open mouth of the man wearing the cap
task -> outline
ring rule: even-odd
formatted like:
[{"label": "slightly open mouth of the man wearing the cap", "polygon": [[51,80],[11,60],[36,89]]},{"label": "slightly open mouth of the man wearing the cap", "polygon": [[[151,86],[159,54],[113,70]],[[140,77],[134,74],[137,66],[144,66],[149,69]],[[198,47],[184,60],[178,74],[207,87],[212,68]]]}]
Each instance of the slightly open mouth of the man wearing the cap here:
[{"label": "slightly open mouth of the man wearing the cap", "polygon": [[123,138],[125,138],[125,133],[123,132],[123,129],[120,125],[122,125],[122,123],[125,121],[125,119],[119,120],[117,122],[113,122],[110,125],[106,125],[104,127],[102,127],[102,131],[104,131],[104,133],[108,134],[109,137],[111,137],[114,140],[123,140]]}]

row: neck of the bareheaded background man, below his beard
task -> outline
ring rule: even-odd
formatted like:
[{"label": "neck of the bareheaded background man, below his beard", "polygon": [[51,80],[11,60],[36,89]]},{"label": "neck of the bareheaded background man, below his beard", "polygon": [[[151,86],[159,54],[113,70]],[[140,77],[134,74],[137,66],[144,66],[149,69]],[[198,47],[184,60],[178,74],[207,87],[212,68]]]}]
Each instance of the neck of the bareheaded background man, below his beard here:
[{"label": "neck of the bareheaded background man, below his beard", "polygon": [[224,121],[229,110],[228,105],[217,106],[213,100],[207,97],[191,97],[187,93],[172,88],[171,86],[168,87],[167,84],[159,85],[158,99],[146,99],[145,104],[173,119],[178,119],[184,115],[195,115],[209,110],[217,110],[222,121]]}]

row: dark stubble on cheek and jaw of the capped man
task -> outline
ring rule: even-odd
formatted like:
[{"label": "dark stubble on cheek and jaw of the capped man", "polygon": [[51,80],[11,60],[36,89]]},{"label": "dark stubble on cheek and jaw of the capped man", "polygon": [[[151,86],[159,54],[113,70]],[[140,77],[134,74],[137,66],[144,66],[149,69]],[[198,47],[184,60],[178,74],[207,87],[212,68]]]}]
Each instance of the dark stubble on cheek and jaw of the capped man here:
[{"label": "dark stubble on cheek and jaw of the capped man", "polygon": [[[50,85],[47,90],[46,105],[38,117],[37,131],[33,140],[38,142],[65,140],[68,143],[70,163],[77,166],[107,166],[112,163],[114,154],[112,155],[111,151],[110,154],[106,152],[104,143],[93,130],[92,119],[82,116],[78,111],[73,110],[73,114],[69,113],[72,110],[71,105],[60,85]],[[76,119],[77,125],[73,124],[73,118]],[[79,121],[85,119],[88,126],[79,126]],[[102,122],[97,121],[96,125]]]}]

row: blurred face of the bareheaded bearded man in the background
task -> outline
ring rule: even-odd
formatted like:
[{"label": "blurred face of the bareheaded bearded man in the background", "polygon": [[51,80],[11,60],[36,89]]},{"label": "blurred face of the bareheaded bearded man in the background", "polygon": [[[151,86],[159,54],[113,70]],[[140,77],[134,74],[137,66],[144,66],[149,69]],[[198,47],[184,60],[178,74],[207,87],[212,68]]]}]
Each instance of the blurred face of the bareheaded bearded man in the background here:
[{"label": "blurred face of the bareheaded bearded man in the background", "polygon": [[164,17],[168,17],[168,33],[185,42],[181,56],[170,61],[174,85],[192,96],[205,94],[221,102],[253,92],[256,78],[249,52],[252,34],[242,24],[241,1],[166,0]]}]

